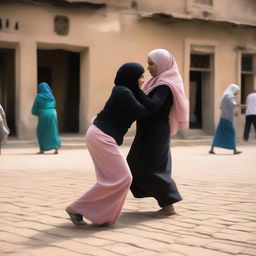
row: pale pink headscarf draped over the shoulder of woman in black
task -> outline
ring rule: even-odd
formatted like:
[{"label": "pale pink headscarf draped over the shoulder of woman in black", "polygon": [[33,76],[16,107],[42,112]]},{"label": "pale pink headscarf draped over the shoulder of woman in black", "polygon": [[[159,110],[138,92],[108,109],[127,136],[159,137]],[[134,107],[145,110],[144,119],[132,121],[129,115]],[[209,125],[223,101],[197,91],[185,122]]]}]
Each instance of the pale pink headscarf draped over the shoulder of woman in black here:
[{"label": "pale pink headscarf draped over the shoulder of woman in black", "polygon": [[151,77],[143,91],[149,94],[159,85],[167,85],[173,94],[173,106],[169,114],[171,134],[187,125],[189,121],[188,100],[184,93],[184,85],[174,56],[165,49],[155,49],[148,57],[157,66],[157,76]]}]

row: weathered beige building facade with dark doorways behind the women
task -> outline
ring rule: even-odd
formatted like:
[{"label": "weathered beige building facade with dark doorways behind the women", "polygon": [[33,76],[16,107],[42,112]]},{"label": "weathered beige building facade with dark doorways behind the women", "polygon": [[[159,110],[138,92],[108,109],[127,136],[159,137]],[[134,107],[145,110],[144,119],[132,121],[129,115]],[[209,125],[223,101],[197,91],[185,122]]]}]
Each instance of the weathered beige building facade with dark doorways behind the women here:
[{"label": "weathered beige building facade with dark doorways behind the women", "polygon": [[[238,84],[244,103],[256,88],[255,14],[254,0],[0,0],[0,103],[12,134],[35,137],[31,107],[42,81],[56,97],[60,132],[85,133],[118,67],[146,68],[147,53],[165,48],[190,103],[178,136],[212,135],[224,89]],[[243,125],[240,111],[240,137]]]}]

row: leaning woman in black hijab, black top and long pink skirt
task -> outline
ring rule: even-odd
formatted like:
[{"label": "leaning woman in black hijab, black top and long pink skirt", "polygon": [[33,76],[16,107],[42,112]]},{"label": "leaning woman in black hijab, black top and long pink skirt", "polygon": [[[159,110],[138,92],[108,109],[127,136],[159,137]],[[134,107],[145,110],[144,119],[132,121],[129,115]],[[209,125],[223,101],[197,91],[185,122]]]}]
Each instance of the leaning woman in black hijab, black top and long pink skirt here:
[{"label": "leaning woman in black hijab, black top and long pink skirt", "polygon": [[140,90],[143,74],[144,68],[138,63],[122,65],[108,101],[88,128],[86,144],[97,183],[66,209],[75,225],[85,224],[83,217],[97,225],[114,224],[120,215],[132,176],[118,145],[131,124],[151,111],[147,96]]}]

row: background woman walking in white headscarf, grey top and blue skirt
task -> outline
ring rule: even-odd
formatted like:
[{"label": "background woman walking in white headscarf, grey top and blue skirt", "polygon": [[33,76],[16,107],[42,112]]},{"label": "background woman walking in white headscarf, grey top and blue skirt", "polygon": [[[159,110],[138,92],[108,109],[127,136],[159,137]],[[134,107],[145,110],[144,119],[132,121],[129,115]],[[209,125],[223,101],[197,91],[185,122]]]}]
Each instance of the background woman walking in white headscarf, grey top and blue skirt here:
[{"label": "background woman walking in white headscarf, grey top and blue skirt", "polygon": [[220,104],[220,121],[215,131],[210,154],[215,154],[214,147],[231,149],[234,154],[242,153],[236,149],[236,133],[233,125],[234,109],[239,106],[235,97],[239,91],[240,89],[236,84],[230,84],[223,93]]}]

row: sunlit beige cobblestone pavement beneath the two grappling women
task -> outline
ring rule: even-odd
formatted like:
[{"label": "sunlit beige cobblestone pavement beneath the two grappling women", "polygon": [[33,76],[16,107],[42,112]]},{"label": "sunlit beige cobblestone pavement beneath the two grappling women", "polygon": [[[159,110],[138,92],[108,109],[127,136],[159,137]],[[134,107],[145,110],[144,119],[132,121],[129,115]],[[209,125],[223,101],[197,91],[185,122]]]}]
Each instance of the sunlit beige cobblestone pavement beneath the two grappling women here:
[{"label": "sunlit beige cobblestone pavement beneath the two grappling women", "polygon": [[36,145],[14,145],[0,156],[0,255],[256,255],[255,144],[241,145],[240,155],[173,147],[173,177],[183,195],[178,215],[152,218],[156,202],[129,192],[111,228],[76,228],[64,211],[95,182],[85,147],[35,155]]}]

